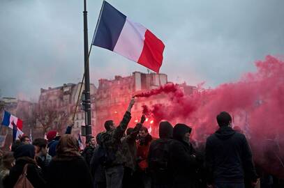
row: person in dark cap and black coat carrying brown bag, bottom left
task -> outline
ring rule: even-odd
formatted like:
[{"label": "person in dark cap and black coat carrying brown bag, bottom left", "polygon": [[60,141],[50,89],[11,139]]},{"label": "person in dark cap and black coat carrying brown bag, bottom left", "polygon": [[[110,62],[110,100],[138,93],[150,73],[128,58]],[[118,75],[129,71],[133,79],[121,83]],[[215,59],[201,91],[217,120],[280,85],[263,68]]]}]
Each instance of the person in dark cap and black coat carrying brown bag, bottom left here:
[{"label": "person in dark cap and black coat carrying brown bag, bottom left", "polygon": [[16,159],[15,166],[10,169],[10,174],[8,179],[4,183],[5,188],[14,187],[15,183],[19,179],[23,172],[24,166],[27,166],[27,179],[31,182],[31,185],[35,188],[46,187],[45,180],[42,177],[40,167],[36,164],[34,160],[35,148],[31,144],[24,144],[19,146],[15,152],[14,157]]}]

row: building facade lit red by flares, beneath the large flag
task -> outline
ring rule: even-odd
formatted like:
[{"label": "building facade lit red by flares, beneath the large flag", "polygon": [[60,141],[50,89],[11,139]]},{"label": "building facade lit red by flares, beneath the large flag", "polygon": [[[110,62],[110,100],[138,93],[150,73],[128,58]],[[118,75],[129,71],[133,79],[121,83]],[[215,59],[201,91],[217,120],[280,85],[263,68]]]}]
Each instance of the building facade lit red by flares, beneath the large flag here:
[{"label": "building facade lit red by flares, beneath the large flag", "polygon": [[[132,96],[159,88],[167,83],[169,82],[165,74],[142,72],[133,72],[129,77],[115,76],[111,80],[100,79],[95,97],[96,124],[94,131],[96,133],[103,131],[105,120],[114,120],[114,123],[118,125]],[[187,86],[185,83],[179,86],[188,95],[192,94],[195,89],[195,87]],[[151,97],[138,97],[135,101],[131,112],[130,127],[133,127],[140,120],[144,105],[151,107],[153,104],[167,104],[169,102],[167,95],[163,93]],[[149,120],[149,123],[153,123],[153,121]]]}]

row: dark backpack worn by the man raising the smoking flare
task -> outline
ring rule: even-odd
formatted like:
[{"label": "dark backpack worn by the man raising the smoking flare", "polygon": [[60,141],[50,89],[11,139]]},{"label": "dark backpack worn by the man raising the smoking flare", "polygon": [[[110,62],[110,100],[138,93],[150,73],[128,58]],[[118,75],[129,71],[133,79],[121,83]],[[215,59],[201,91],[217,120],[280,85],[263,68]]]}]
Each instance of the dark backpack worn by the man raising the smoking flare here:
[{"label": "dark backpack worn by the man raising the smoking flare", "polygon": [[115,140],[112,139],[111,132],[104,132],[100,135],[101,144],[101,156],[100,159],[101,164],[107,168],[112,166],[112,162],[114,162],[115,154],[118,149],[118,144],[115,143]]}]

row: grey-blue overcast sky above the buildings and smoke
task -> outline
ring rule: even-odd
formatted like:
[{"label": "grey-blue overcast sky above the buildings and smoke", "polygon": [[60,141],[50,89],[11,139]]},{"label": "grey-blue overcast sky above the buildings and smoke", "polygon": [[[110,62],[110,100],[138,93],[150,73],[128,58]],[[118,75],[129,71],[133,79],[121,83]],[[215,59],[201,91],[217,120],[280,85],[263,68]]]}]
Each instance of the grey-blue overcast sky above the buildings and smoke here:
[{"label": "grey-blue overcast sky above the buildings and smoke", "polygon": [[[103,1],[87,0],[89,44]],[[284,54],[283,0],[110,0],[165,43],[169,81],[218,86]],[[37,100],[40,88],[82,79],[83,0],[0,0],[0,95]],[[93,47],[91,82],[146,68]]]}]

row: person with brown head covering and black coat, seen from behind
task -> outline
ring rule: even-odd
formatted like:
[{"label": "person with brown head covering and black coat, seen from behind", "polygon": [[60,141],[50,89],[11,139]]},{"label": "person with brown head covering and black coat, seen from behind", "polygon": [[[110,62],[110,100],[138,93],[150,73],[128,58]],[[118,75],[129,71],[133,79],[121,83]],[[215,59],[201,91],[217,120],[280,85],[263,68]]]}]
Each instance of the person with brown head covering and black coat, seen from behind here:
[{"label": "person with brown head covering and black coat, seen from behind", "polygon": [[91,173],[87,163],[80,155],[77,140],[65,134],[57,145],[57,155],[50,162],[47,172],[49,187],[92,188]]}]

